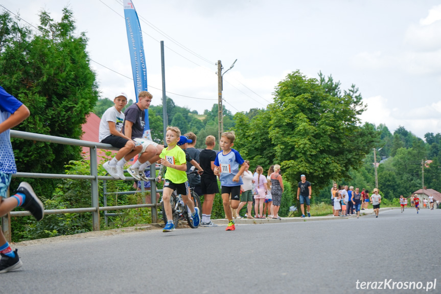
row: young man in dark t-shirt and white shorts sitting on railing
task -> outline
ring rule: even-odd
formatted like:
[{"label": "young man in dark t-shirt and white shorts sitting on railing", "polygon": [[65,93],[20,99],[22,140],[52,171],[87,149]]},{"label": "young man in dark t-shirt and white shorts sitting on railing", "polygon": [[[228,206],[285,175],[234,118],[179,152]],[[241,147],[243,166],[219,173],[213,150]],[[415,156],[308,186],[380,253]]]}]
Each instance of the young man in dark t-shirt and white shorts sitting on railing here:
[{"label": "young man in dark t-shirt and white shorts sitting on railing", "polygon": [[138,102],[133,103],[124,111],[123,133],[133,141],[143,145],[141,156],[127,169],[127,172],[137,180],[148,180],[145,177],[144,169],[158,161],[159,154],[164,149],[164,146],[143,138],[146,124],[144,110],[149,109],[152,98],[153,96],[149,92],[142,91],[138,95]]}]

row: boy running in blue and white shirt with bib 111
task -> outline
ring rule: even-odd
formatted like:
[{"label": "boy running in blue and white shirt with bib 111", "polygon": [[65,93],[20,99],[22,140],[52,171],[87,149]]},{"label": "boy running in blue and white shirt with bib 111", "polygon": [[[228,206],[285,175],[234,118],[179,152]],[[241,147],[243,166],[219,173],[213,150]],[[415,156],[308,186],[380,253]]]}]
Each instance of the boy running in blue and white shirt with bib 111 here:
[{"label": "boy running in blue and white shirt with bib 111", "polygon": [[[245,161],[239,152],[231,149],[236,136],[232,132],[224,132],[221,135],[220,151],[216,155],[214,174],[219,175],[221,181],[221,194],[223,209],[228,219],[228,226],[225,231],[236,230],[231,208],[237,209],[240,202],[240,186],[243,185],[241,175],[245,170]],[[240,169],[239,169],[240,167]],[[231,194],[231,203],[229,195]]]}]

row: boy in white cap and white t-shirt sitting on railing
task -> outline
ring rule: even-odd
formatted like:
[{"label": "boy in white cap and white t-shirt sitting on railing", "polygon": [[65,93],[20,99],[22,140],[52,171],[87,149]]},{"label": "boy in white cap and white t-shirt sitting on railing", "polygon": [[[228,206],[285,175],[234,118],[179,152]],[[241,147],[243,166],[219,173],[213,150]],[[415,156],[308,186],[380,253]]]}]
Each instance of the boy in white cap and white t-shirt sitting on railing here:
[{"label": "boy in white cap and white t-shirt sitting on railing", "polygon": [[112,160],[105,162],[103,167],[112,177],[125,180],[124,165],[140,153],[143,146],[135,147],[135,142],[122,133],[125,116],[121,111],[127,104],[127,95],[118,93],[113,103],[115,105],[104,111],[101,117],[99,141],[120,148],[120,150]]}]

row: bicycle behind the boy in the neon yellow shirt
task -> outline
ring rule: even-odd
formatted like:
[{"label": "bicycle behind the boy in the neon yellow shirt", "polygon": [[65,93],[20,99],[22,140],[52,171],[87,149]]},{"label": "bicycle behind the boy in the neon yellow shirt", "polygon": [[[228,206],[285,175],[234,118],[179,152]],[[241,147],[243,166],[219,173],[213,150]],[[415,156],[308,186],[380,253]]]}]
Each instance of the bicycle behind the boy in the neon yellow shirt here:
[{"label": "bicycle behind the boy in the neon yellow shirt", "polygon": [[[187,174],[192,174],[195,172],[197,172],[197,171],[192,171]],[[191,198],[193,200],[195,207],[199,208],[199,217],[201,218],[201,211],[202,211],[201,200],[199,198],[199,195],[196,194],[196,192],[194,191],[193,187],[190,187],[190,195],[191,195]],[[164,223],[167,223],[168,219],[167,219],[166,211],[164,209],[164,201],[163,200],[161,200],[161,206],[162,206],[162,210],[163,210]],[[184,204],[184,201],[182,200],[181,194],[177,194],[176,190],[173,191],[172,195],[170,196],[170,206],[172,208],[173,223],[174,223],[175,227],[178,225],[179,220],[185,219],[185,220],[187,220],[187,223],[189,224],[190,228],[192,228],[192,229],[197,228],[193,224],[193,217],[192,217],[191,212],[189,211],[190,209],[187,207],[187,205]]]}]

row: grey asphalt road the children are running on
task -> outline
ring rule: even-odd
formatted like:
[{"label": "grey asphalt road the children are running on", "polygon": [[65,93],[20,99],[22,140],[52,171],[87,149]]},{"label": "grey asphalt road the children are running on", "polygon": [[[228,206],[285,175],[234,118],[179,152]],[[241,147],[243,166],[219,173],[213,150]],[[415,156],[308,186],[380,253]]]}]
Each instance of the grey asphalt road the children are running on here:
[{"label": "grey asphalt road the children are running on", "polygon": [[[0,293],[441,293],[441,210],[359,219],[159,230],[20,246]],[[372,284],[370,284],[372,287]],[[383,286],[383,285],[382,285]],[[379,284],[377,284],[379,287]],[[433,287],[433,286],[432,286]]]}]

